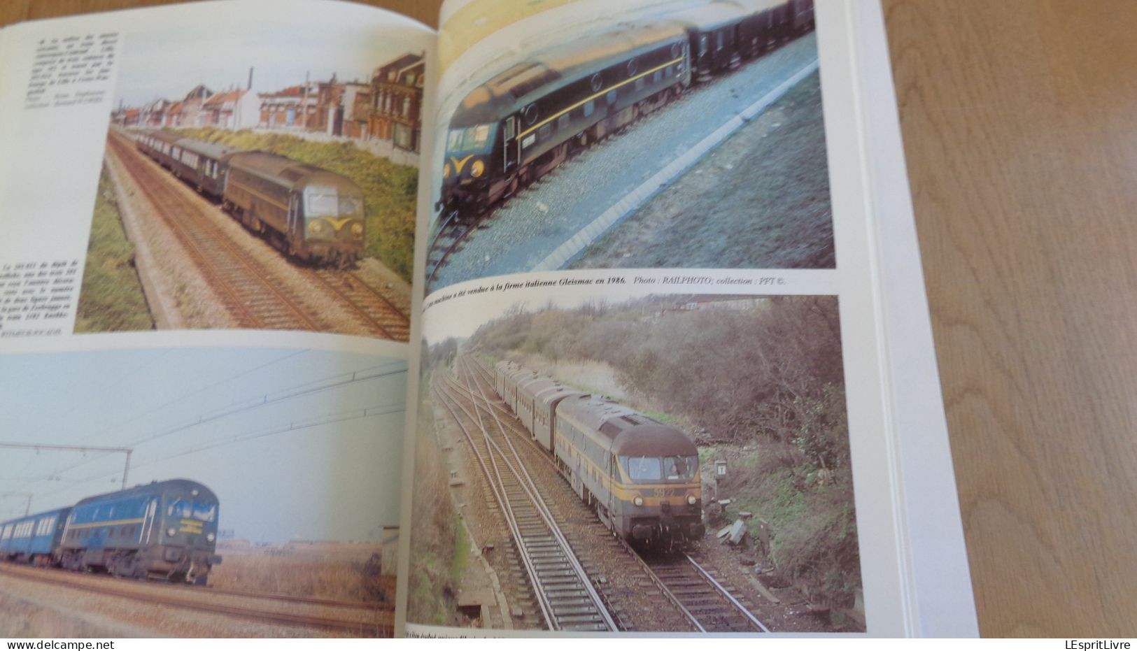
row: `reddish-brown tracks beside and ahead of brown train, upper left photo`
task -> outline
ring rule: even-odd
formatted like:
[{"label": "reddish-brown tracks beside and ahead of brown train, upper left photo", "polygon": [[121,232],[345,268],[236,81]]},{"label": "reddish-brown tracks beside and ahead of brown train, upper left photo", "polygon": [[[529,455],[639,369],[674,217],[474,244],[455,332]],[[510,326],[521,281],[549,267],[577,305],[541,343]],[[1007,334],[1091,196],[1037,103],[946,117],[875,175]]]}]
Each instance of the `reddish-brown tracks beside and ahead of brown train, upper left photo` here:
[{"label": "reddish-brown tracks beside and ahead of brown train, upper left photo", "polygon": [[[206,212],[210,209],[185,197],[181,184],[161,166],[138,153],[125,136],[113,134],[108,142],[155,212],[161,216],[183,244],[238,327],[334,329],[319,318],[318,315],[324,311],[321,307],[308,304],[271,268],[232,242],[209,219]],[[296,270],[359,322],[362,332],[358,334],[395,341],[409,339],[410,318],[407,314],[356,272],[302,267]]]}]

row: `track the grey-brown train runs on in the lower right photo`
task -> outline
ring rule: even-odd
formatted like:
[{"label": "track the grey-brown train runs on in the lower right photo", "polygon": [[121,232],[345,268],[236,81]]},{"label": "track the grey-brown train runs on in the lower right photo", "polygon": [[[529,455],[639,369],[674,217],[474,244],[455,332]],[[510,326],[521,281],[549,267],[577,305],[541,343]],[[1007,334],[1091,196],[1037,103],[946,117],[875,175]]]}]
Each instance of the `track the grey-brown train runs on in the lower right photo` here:
[{"label": "track the grey-brown train runs on in the lower right photo", "polygon": [[[496,395],[492,373],[480,361],[462,358],[467,369],[466,379],[478,382],[483,394],[488,386]],[[532,440],[529,432],[516,422],[504,402],[485,400],[487,408],[499,414],[499,419],[524,444],[541,453],[549,468],[557,470],[553,459]],[[557,470],[559,474],[559,470]],[[575,499],[575,494],[573,495]],[[597,520],[597,526],[604,525]],[[709,633],[769,633],[770,629],[754,615],[746,598],[737,596],[729,582],[706,569],[689,553],[640,553],[624,541],[620,545],[631,562],[647,573],[663,596],[683,614],[694,631]]]}]

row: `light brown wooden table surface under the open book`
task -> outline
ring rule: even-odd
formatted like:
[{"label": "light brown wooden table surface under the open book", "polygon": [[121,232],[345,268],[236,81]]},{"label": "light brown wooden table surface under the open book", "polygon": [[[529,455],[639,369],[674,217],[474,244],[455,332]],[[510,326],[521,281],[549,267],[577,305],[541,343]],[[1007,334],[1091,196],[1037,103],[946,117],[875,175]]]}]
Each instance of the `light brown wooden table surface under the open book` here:
[{"label": "light brown wooden table surface under the open book", "polygon": [[1137,2],[883,6],[981,632],[1137,636]]}]

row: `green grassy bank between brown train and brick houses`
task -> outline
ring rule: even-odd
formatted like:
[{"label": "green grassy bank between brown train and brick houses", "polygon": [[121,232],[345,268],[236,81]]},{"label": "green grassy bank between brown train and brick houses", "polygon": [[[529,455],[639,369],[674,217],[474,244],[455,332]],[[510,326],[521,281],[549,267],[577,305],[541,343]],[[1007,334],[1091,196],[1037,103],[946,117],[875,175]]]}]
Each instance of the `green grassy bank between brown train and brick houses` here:
[{"label": "green grassy bank between brown train and brick houses", "polygon": [[183,128],[179,133],[205,142],[260,150],[323,167],[354,181],[364,193],[367,211],[367,254],[410,282],[414,266],[415,195],[418,169],[391,162],[347,142],[314,142],[294,135]]}]

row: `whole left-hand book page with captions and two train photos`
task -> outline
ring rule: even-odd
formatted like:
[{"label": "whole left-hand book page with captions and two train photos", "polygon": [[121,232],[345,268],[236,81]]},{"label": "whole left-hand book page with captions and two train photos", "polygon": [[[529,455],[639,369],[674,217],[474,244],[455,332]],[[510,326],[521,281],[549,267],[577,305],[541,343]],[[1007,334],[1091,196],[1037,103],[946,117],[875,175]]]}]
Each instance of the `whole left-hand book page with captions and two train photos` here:
[{"label": "whole left-hand book page with captions and two train photos", "polygon": [[0,636],[390,636],[433,33],[0,34]]}]

